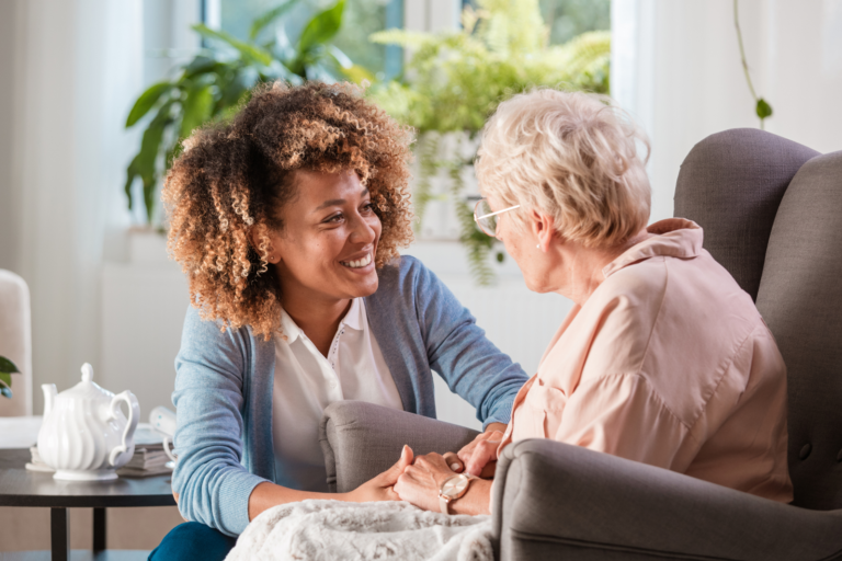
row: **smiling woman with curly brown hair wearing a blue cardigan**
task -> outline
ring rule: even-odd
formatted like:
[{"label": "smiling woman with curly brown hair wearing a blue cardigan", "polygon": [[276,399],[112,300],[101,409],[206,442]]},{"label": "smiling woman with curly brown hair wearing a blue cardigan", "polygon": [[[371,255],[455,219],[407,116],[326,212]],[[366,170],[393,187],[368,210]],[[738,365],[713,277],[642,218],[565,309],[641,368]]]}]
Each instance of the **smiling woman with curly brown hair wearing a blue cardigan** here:
[{"label": "smiling woman with curly brown hair wearing a blue cardigan", "polygon": [[194,134],[167,179],[169,248],[193,306],[175,360],[181,514],[151,559],[223,559],[261,512],[397,500],[392,470],[327,494],[322,411],[360,400],[435,416],[431,369],[509,422],[526,375],[420,262],[411,135],[348,84],[263,87]]}]

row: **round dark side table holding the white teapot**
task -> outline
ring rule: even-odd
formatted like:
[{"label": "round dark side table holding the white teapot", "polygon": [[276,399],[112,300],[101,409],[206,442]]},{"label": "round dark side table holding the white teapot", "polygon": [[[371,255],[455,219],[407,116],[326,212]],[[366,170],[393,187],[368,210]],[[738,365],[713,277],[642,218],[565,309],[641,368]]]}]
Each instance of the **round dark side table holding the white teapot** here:
[{"label": "round dark side table holding the white teapot", "polygon": [[[41,506],[50,510],[49,534],[53,561],[70,559],[67,510],[93,508],[94,557],[117,559],[105,550],[105,508],[125,506],[172,506],[175,499],[170,474],[148,478],[118,478],[112,481],[56,481],[52,473],[29,471],[26,448],[0,449],[0,506]],[[22,556],[21,558],[32,556]]]}]

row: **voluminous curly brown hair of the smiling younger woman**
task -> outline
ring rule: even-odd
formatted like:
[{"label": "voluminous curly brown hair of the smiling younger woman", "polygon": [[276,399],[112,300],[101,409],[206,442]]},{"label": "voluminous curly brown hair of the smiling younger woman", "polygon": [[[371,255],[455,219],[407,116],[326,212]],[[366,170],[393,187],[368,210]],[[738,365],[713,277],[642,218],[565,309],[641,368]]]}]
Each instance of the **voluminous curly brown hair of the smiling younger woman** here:
[{"label": "voluminous curly brown hair of the smiling younger woman", "polygon": [[170,256],[202,319],[223,331],[249,325],[266,341],[280,330],[281,283],[266,260],[268,233],[284,227],[296,170],[354,170],[383,225],[375,265],[397,257],[412,241],[411,142],[410,128],[349,83],[259,85],[234,119],[193,133],[161,198]]}]

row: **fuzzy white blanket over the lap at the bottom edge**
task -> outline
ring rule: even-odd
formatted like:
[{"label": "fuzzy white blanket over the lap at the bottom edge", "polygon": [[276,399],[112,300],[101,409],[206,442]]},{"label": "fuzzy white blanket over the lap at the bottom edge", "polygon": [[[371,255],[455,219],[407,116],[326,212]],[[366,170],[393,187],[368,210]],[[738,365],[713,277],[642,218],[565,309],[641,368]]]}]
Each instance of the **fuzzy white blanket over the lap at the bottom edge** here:
[{"label": "fuzzy white blanket over the lap at the bottom edge", "polygon": [[490,516],[405,502],[303,501],[254,518],[226,561],[492,561]]}]

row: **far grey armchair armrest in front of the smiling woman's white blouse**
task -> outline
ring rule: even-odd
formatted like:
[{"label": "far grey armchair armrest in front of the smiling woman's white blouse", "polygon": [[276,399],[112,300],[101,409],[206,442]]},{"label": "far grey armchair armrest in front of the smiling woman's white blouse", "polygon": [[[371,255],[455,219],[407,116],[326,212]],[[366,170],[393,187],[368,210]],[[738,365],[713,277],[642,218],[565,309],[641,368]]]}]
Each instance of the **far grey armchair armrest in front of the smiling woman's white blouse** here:
[{"label": "far grey armchair armrest in front of the smiling woman's white blouse", "polygon": [[338,401],[325,410],[319,442],[328,488],[345,493],[386,471],[408,444],[416,455],[456,451],[479,433],[406,411],[362,401]]}]

